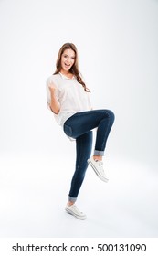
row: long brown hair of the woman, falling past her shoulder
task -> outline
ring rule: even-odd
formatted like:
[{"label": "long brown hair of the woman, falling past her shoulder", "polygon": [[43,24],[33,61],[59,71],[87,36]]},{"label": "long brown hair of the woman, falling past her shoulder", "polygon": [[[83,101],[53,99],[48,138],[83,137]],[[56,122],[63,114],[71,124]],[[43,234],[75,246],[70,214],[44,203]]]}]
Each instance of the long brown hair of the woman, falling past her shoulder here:
[{"label": "long brown hair of the woman, falling past her shoulder", "polygon": [[55,74],[58,74],[61,70],[61,56],[63,54],[63,52],[66,50],[66,49],[72,49],[74,52],[75,52],[75,62],[73,64],[73,66],[69,69],[69,72],[73,75],[76,76],[77,78],[77,81],[83,86],[84,90],[85,91],[88,91],[90,92],[90,90],[86,87],[86,84],[84,83],[84,81],[82,80],[81,76],[79,75],[79,59],[78,59],[78,50],[76,48],[76,46],[72,43],[66,43],[64,44],[60,49],[59,49],[59,52],[58,52],[58,59],[57,59],[57,62],[56,62],[56,71],[54,72],[54,75]]}]

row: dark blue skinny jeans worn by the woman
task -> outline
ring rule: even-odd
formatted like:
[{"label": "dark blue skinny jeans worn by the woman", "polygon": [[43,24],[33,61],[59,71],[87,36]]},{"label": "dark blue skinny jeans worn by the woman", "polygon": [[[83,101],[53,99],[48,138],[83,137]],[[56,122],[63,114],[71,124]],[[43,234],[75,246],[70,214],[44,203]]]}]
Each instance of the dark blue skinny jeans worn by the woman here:
[{"label": "dark blue skinny jeans worn by the woman", "polygon": [[75,202],[88,167],[87,160],[91,155],[92,132],[97,128],[93,155],[104,155],[106,142],[114,122],[114,114],[110,110],[94,110],[77,112],[64,123],[64,132],[76,139],[76,169],[72,177],[68,200]]}]

